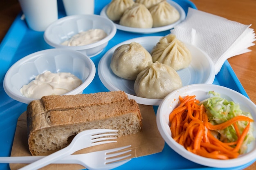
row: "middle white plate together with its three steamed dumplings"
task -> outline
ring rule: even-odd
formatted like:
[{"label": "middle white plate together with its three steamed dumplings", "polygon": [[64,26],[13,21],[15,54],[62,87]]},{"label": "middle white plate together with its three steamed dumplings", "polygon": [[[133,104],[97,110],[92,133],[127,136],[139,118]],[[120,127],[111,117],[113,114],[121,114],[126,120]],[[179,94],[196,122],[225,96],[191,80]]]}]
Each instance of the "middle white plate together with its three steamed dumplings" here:
[{"label": "middle white plate together with its three steamed dumplings", "polygon": [[173,34],[133,38],[113,46],[98,65],[110,91],[124,91],[139,104],[158,106],[172,91],[190,84],[212,84],[211,58]]}]

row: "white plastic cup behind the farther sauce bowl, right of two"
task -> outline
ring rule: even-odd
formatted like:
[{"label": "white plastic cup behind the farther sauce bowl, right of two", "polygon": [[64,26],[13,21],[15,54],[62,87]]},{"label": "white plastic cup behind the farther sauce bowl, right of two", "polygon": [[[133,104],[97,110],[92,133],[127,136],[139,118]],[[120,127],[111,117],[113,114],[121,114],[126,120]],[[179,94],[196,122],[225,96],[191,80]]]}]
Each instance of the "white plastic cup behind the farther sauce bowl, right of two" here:
[{"label": "white plastic cup behind the farther sauce bowl, right of two", "polygon": [[94,0],[63,0],[66,14],[94,14]]}]

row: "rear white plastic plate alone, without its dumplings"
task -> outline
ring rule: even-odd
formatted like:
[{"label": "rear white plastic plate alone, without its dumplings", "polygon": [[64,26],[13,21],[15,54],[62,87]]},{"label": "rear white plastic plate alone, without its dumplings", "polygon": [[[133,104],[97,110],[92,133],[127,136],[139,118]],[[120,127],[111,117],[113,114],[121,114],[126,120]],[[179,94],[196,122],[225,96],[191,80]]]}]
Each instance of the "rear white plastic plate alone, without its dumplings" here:
[{"label": "rear white plastic plate alone, without its dumplings", "polygon": [[[115,22],[115,26],[119,30],[127,31],[127,32],[132,32],[132,33],[157,33],[157,32],[161,32],[161,31],[166,31],[166,30],[172,29],[175,25],[177,25],[180,22],[182,22],[183,20],[185,20],[186,13],[185,13],[184,9],[182,7],[180,7],[180,5],[177,4],[176,2],[173,2],[172,0],[166,0],[166,1],[169,4],[171,4],[173,7],[175,7],[177,9],[177,11],[179,11],[179,13],[180,13],[180,19],[177,20],[176,22],[174,22],[173,24],[169,24],[169,25],[166,25],[166,26],[159,26],[159,27],[150,28],[150,29],[142,29],[142,28],[133,28],[133,27],[128,27],[128,26],[122,26],[122,25],[119,24],[119,22]],[[106,13],[107,9],[108,9],[108,5],[106,5],[101,10],[100,15],[103,16],[103,17],[108,18],[108,15]]]}]

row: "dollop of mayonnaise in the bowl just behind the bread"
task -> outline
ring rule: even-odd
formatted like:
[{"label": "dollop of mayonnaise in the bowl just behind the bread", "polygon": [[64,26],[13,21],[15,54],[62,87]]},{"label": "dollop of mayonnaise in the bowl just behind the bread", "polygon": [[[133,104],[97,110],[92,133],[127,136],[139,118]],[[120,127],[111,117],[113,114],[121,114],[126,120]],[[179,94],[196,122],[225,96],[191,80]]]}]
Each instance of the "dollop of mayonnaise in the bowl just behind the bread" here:
[{"label": "dollop of mayonnaise in the bowl just behind the bread", "polygon": [[20,88],[25,97],[40,99],[46,95],[63,95],[82,84],[81,79],[71,73],[51,73],[37,75],[29,84]]}]

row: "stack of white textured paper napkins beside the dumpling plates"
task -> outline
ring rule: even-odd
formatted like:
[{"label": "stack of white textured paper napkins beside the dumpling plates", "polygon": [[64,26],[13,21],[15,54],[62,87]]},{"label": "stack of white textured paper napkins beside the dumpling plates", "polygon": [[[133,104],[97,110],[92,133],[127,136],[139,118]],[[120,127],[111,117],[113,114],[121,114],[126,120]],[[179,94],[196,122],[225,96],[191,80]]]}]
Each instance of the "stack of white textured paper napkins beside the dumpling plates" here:
[{"label": "stack of white textured paper napkins beside the dumpling plates", "polygon": [[186,20],[175,26],[171,33],[207,53],[218,74],[229,57],[251,51],[248,47],[255,45],[256,39],[250,26],[189,8]]}]

